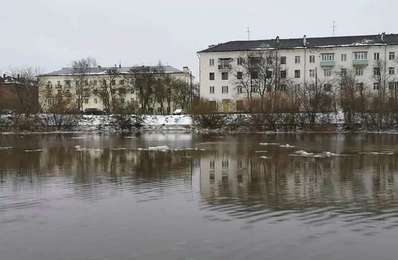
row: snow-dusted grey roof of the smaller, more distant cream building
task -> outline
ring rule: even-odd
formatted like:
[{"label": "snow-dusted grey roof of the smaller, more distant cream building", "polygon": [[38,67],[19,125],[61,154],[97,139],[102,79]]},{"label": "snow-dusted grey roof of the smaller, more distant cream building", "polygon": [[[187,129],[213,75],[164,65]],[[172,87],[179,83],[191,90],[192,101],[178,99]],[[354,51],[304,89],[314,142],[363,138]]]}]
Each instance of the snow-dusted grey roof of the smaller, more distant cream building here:
[{"label": "snow-dusted grey roof of the smaller, more distant cream building", "polygon": [[[103,74],[103,75],[105,75],[106,72],[109,69],[113,69],[113,68],[114,67],[95,67],[95,68],[90,68],[90,74],[93,74],[93,75],[101,75],[101,74]],[[120,68],[117,67],[116,69],[117,69],[118,73],[123,74],[123,73],[128,73],[131,69],[137,70],[139,68],[142,68],[142,66],[141,67],[120,67]],[[145,68],[146,69],[147,68],[149,68],[149,69],[152,68],[153,71],[158,70],[158,66],[145,66]],[[172,66],[162,66],[162,71],[163,71],[163,73],[183,73],[182,71],[180,71],[180,70],[178,70],[178,69],[176,69],[176,68],[174,68]],[[72,68],[62,68],[62,70],[53,71],[53,72],[46,73],[46,74],[43,74],[43,75],[40,75],[40,76],[62,76],[62,75],[73,75],[73,74],[74,73],[73,73],[73,69]]]}]

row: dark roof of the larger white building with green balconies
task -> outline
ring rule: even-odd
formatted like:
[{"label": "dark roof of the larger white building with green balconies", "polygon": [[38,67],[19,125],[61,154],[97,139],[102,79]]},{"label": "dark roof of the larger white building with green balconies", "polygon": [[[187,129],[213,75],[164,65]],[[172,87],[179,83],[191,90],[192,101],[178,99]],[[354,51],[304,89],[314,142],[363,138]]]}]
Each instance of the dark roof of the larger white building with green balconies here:
[{"label": "dark roof of the larger white building with green balconies", "polygon": [[[398,34],[386,34],[386,43],[382,42],[380,35],[358,35],[358,36],[337,36],[306,38],[307,48],[324,47],[346,47],[378,44],[398,44]],[[224,52],[224,51],[249,51],[276,49],[276,39],[255,40],[255,41],[230,41],[214,45],[200,52]],[[303,38],[280,39],[279,49],[304,48]]]}]

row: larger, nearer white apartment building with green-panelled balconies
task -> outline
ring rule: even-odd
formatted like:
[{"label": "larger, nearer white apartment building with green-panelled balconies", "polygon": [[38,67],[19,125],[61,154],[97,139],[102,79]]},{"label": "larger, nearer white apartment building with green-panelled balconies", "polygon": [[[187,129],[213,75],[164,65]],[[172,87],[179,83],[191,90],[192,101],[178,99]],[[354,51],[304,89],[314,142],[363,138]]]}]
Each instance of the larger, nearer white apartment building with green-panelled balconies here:
[{"label": "larger, nearer white apartment building with green-panelled balconies", "polygon": [[[375,62],[383,61],[388,88],[398,87],[398,34],[339,36],[298,39],[269,39],[230,41],[210,45],[199,51],[200,97],[222,103],[224,112],[241,110],[247,99],[237,86],[237,72],[241,69],[239,57],[248,52],[274,52],[293,79],[295,88],[310,86],[317,81],[330,79],[336,72],[355,71],[358,82],[377,89],[374,82]],[[332,85],[330,87],[333,87]]]}]

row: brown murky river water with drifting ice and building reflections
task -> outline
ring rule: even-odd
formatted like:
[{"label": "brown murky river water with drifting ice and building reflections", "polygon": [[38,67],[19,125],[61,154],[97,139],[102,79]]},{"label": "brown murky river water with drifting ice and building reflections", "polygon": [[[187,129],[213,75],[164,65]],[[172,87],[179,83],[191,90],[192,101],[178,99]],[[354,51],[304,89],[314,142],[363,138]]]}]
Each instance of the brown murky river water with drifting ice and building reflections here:
[{"label": "brown murky river water with drifting ice and building reflections", "polygon": [[0,135],[0,147],[0,260],[397,259],[398,135]]}]

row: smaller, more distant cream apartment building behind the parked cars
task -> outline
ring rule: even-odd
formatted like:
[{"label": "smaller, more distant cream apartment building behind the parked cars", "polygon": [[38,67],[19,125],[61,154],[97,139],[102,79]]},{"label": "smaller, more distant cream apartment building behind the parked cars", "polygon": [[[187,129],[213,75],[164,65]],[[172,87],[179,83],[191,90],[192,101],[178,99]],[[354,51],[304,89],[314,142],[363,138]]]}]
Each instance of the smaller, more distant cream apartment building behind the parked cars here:
[{"label": "smaller, more distant cream apartment building behind the parked cars", "polygon": [[[83,110],[86,108],[99,108],[103,110],[104,106],[101,103],[100,97],[96,95],[95,88],[100,87],[104,79],[109,79],[107,76],[109,76],[108,71],[110,69],[117,69],[118,77],[110,83],[117,88],[115,97],[121,103],[139,103],[140,97],[134,87],[134,82],[128,77],[135,68],[136,67],[121,67],[120,65],[116,68],[101,66],[89,68],[84,82],[80,82],[82,77],[78,73],[75,73],[72,68],[62,68],[59,71],[43,74],[39,76],[42,82],[39,86],[39,100],[43,100],[44,109],[46,109],[46,107],[49,107],[54,102],[54,98],[58,93],[65,91],[73,97],[77,93],[77,87],[82,87]],[[149,68],[148,71],[151,71],[152,67],[149,66],[146,68]],[[172,66],[161,66],[160,68],[158,66],[153,66],[153,71],[156,71],[156,74],[170,75],[175,79],[184,81],[186,84],[190,84],[191,80],[195,80],[195,77],[192,76],[188,67],[184,67],[181,71]],[[160,109],[161,108],[156,103],[153,112],[161,113],[162,111]]]}]

